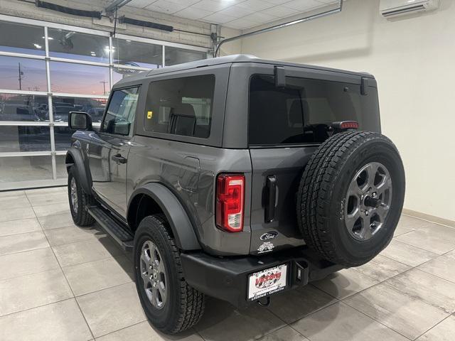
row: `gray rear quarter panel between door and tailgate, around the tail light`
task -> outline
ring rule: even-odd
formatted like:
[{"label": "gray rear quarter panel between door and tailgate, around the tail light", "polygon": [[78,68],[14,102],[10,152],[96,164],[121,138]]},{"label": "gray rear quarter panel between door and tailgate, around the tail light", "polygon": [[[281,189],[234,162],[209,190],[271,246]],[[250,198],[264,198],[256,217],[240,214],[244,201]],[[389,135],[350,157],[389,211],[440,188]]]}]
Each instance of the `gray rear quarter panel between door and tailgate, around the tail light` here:
[{"label": "gray rear quarter panel between door and tailgate, around the tail light", "polygon": [[[188,163],[188,160],[191,160],[191,163]],[[230,150],[135,136],[128,165],[128,197],[147,183],[161,183],[181,202],[203,249],[218,255],[248,254],[250,188],[247,187],[245,193],[243,232],[223,232],[215,226],[214,197],[218,173],[245,173],[246,182],[251,183],[248,150]],[[196,181],[198,188],[194,187]]]}]

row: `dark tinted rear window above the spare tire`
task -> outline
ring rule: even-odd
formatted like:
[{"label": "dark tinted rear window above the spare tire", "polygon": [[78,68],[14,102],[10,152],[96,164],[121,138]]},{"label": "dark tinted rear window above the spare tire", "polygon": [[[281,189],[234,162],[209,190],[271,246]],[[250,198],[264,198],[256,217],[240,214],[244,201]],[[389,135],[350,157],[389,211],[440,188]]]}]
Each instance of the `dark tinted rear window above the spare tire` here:
[{"label": "dark tinted rear window above the spare tire", "polygon": [[328,139],[327,124],[358,121],[359,130],[379,131],[378,93],[360,85],[286,77],[276,87],[274,76],[250,80],[250,146],[320,143]]}]

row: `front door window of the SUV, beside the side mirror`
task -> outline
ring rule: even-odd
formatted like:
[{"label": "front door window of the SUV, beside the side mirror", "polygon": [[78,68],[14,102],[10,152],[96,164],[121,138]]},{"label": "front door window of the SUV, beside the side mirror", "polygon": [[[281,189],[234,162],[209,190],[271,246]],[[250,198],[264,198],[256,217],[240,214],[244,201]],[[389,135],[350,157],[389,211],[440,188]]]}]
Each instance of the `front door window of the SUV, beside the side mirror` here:
[{"label": "front door window of the SUV, beside the side mirror", "polygon": [[102,124],[109,134],[129,135],[136,114],[139,87],[114,90]]}]

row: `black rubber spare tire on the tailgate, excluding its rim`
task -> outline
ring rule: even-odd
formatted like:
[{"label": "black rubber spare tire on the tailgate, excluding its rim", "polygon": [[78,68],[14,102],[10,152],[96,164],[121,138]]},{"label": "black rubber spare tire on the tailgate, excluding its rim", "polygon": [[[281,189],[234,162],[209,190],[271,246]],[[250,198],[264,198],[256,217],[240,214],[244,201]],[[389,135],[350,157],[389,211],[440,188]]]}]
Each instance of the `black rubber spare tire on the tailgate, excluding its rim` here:
[{"label": "black rubber spare tire on the tailgate, excluding its rim", "polygon": [[[378,235],[358,241],[346,228],[343,207],[351,179],[370,162],[380,162],[390,171],[392,199]],[[325,259],[344,266],[360,266],[390,243],[404,196],[405,171],[390,139],[368,131],[335,134],[319,146],[302,175],[296,202],[299,228],[306,244]]]}]

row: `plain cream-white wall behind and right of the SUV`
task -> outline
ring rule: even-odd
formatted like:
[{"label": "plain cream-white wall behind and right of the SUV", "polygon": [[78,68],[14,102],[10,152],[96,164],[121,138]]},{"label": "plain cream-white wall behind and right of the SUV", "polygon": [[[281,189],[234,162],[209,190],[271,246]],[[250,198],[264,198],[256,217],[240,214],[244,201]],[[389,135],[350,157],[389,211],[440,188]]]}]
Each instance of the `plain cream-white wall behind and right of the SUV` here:
[{"label": "plain cream-white wall behind and right of the SUV", "polygon": [[242,53],[360,70],[378,80],[382,132],[405,163],[405,208],[455,221],[455,1],[386,20],[379,0],[242,40]]}]

